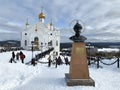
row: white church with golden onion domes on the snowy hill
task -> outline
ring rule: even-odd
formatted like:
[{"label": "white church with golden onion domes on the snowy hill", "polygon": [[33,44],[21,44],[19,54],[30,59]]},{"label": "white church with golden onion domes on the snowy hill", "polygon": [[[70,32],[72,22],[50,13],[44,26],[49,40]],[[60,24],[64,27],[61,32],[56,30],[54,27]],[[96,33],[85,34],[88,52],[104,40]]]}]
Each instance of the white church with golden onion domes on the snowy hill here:
[{"label": "white church with golden onion domes on the snowy hill", "polygon": [[44,23],[46,17],[42,10],[38,18],[39,22],[33,26],[29,26],[27,20],[26,29],[21,35],[21,47],[30,50],[33,44],[34,50],[40,50],[41,52],[54,48],[56,55],[59,55],[60,31],[54,28],[52,21],[48,25]]}]

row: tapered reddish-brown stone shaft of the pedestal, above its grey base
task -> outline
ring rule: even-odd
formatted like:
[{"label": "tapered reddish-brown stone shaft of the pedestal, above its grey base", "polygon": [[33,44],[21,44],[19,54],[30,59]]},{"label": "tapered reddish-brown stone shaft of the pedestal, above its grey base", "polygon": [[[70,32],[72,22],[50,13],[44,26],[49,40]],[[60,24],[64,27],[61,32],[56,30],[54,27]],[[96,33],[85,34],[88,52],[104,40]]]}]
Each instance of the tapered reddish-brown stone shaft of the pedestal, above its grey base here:
[{"label": "tapered reddish-brown stone shaft of the pedestal, above its grey base", "polygon": [[85,43],[73,43],[70,62],[71,79],[89,79]]}]

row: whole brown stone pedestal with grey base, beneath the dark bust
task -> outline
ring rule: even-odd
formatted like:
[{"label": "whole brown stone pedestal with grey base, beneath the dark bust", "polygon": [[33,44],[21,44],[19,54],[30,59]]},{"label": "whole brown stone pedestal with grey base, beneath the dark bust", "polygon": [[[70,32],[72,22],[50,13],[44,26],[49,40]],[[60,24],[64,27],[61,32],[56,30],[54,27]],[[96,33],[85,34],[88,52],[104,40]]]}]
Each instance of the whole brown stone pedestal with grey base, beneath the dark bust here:
[{"label": "whole brown stone pedestal with grey base, beneath the dark bust", "polygon": [[86,47],[84,42],[74,42],[72,45],[69,74],[65,74],[68,86],[85,85],[95,86],[89,77]]}]

